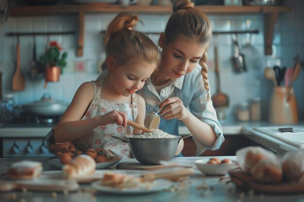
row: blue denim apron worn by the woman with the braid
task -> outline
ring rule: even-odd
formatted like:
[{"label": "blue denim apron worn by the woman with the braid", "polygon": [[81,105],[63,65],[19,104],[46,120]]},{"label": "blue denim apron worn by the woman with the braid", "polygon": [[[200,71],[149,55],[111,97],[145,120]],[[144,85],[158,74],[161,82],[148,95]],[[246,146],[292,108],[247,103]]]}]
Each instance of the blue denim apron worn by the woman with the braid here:
[{"label": "blue denim apron worn by the woman with the braid", "polygon": [[[176,96],[181,99],[182,97],[182,91],[178,88],[176,88]],[[151,105],[146,105],[146,114],[154,111],[156,113],[156,111],[158,111],[158,106],[151,106]],[[170,119],[170,120],[166,120],[163,119],[163,117],[160,116],[160,124],[158,126],[159,129],[161,129],[162,131],[172,134],[172,135],[178,135],[178,119]],[[182,153],[180,153],[179,155],[176,156],[183,156]]]}]

